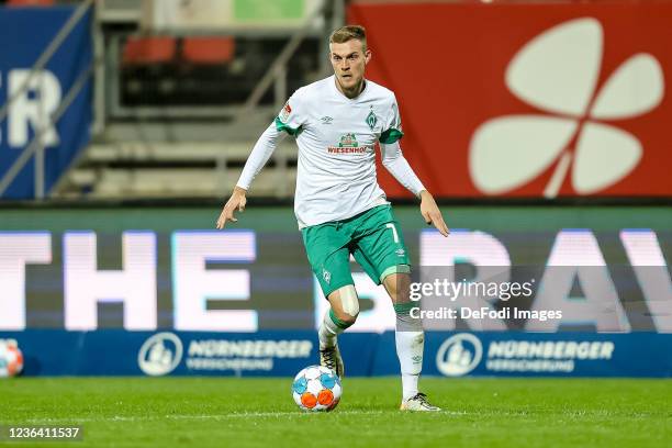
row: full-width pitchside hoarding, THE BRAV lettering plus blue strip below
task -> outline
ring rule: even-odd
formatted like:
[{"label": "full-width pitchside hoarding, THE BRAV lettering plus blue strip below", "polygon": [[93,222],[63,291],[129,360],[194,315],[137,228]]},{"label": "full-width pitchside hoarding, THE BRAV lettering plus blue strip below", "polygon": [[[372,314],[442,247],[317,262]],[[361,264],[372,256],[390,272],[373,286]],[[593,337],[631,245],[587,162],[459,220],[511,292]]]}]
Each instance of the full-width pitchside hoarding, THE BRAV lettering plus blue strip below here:
[{"label": "full-width pitchside hoarding, THE BRAV lettering plus blue strip below", "polygon": [[[460,266],[470,281],[493,266],[508,280],[536,280],[530,296],[441,303],[529,314],[427,322],[428,373],[672,374],[672,209],[445,206],[448,239],[416,206],[395,213],[416,281]],[[290,374],[314,362],[325,301],[292,210],[251,204],[224,232],[212,231],[217,214],[219,206],[0,210],[0,338],[19,341],[25,374],[161,374],[153,369],[178,358],[163,374]],[[570,279],[561,287],[549,280],[558,270]],[[344,338],[346,356],[356,354],[350,374],[392,374],[389,299],[356,265],[354,278],[362,313]],[[235,340],[247,343],[227,343]],[[190,350],[212,356],[188,362]]]}]

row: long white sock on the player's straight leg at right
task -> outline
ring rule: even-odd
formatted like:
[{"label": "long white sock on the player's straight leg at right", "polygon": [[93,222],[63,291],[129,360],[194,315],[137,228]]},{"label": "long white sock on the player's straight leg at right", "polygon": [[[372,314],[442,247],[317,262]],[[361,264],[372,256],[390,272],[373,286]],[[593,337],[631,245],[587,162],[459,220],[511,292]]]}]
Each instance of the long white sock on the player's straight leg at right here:
[{"label": "long white sock on the player's straight leg at right", "polygon": [[417,381],[423,370],[423,351],[425,350],[425,332],[422,321],[408,315],[408,304],[395,305],[396,356],[402,373],[402,399],[404,401],[417,394]]}]

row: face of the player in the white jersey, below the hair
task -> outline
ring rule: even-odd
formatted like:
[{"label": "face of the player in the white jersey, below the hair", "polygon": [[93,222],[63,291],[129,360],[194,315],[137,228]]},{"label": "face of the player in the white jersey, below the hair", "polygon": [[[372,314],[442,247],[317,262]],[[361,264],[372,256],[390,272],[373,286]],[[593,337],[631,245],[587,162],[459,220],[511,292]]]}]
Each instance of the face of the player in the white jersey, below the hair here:
[{"label": "face of the player in the white jersey, below the hair", "polygon": [[362,43],[356,38],[343,44],[333,43],[329,48],[336,82],[344,93],[358,94],[361,91],[365,68],[371,59],[371,51],[365,52]]}]

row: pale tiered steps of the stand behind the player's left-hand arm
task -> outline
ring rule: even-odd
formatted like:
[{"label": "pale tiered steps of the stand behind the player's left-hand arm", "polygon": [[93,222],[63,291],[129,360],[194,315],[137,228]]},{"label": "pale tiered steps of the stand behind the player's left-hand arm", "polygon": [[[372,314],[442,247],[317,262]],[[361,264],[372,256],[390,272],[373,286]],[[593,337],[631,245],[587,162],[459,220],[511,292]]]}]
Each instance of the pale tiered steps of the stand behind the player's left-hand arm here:
[{"label": "pale tiered steps of the stand behind the player's left-hand arm", "polygon": [[[89,198],[213,198],[240,177],[254,142],[93,144],[56,193],[86,192]],[[255,180],[251,195],[287,198],[296,184],[296,149],[278,146]]]}]

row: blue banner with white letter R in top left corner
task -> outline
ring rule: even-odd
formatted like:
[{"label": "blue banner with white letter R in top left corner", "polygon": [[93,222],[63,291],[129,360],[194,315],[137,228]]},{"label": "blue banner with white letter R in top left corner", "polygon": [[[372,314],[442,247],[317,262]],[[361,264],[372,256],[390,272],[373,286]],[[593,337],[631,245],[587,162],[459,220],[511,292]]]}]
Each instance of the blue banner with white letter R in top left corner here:
[{"label": "blue banner with white letter R in top left corner", "polygon": [[[51,58],[31,71],[75,11],[76,7],[67,5],[0,7],[2,199],[48,195],[91,138],[91,11],[74,24]],[[35,149],[37,132],[43,135]],[[26,149],[32,150],[27,163],[23,160]],[[43,179],[44,191],[36,191],[36,178]]]}]

